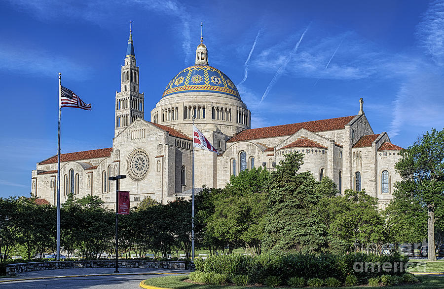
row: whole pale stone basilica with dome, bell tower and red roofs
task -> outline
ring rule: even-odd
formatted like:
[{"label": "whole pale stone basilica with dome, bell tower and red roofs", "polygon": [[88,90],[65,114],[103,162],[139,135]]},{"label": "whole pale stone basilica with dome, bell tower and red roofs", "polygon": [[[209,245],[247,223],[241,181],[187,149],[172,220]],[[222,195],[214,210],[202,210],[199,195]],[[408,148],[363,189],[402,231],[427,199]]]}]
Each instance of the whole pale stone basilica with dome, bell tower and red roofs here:
[{"label": "whole pale stone basilica with dome, bell tower and red roofs", "polygon": [[[300,171],[316,179],[330,177],[341,193],[361,190],[383,206],[392,199],[393,184],[401,178],[394,169],[401,147],[386,132],[374,133],[360,99],[357,115],[251,128],[251,112],[234,83],[209,65],[202,41],[195,64],[180,71],[166,86],[145,120],[144,93],[139,92],[132,35],[120,92],[115,94],[114,138],[111,148],[61,155],[60,195],[100,197],[115,207],[115,182],[109,176],[127,175],[120,189],[130,191],[131,206],[151,197],[166,203],[189,196],[192,188],[192,133],[195,125],[220,152],[195,150],[195,187],[223,188],[231,175],[252,167],[273,170],[286,153],[304,154]],[[57,155],[37,163],[32,171],[32,194],[56,205]]]}]

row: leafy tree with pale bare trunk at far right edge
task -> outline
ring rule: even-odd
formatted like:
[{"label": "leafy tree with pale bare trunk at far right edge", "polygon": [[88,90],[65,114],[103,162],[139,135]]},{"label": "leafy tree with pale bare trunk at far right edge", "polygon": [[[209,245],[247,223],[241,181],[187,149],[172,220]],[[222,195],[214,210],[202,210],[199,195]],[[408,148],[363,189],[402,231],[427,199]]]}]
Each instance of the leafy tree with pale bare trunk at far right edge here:
[{"label": "leafy tree with pale bare trunk at far right edge", "polygon": [[397,184],[398,196],[427,208],[428,260],[436,261],[435,213],[444,206],[444,129],[427,131],[400,154],[395,165],[403,179]]}]

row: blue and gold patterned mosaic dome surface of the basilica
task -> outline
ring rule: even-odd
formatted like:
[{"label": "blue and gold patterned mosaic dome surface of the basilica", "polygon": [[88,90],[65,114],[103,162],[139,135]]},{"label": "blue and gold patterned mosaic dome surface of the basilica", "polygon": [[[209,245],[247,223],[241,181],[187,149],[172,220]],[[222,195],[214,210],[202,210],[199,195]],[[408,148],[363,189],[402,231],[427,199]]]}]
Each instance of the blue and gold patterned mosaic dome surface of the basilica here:
[{"label": "blue and gold patterned mosaic dome surface of the basilica", "polygon": [[222,71],[209,65],[193,65],[179,72],[168,83],[162,97],[183,92],[216,92],[240,99],[236,85]]}]

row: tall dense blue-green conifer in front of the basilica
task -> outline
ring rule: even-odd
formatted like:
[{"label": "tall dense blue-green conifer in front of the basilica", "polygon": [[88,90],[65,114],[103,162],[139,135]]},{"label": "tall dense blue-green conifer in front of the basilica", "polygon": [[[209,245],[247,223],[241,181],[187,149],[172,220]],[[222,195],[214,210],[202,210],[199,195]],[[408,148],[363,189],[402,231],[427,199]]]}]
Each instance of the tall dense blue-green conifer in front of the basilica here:
[{"label": "tall dense blue-green conifer in front of the basilica", "polygon": [[316,204],[323,197],[311,172],[297,172],[300,153],[287,154],[269,182],[264,247],[274,252],[314,252],[326,247],[326,226]]}]

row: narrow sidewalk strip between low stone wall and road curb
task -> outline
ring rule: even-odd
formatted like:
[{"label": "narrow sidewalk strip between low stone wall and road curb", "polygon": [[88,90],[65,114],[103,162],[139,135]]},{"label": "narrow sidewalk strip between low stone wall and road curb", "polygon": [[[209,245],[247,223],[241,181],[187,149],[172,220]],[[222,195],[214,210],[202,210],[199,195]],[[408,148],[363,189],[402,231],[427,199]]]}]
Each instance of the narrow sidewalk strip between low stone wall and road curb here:
[{"label": "narrow sidewalk strip between low stone wall and road curb", "polygon": [[87,276],[112,276],[112,275],[161,275],[161,274],[189,274],[188,270],[173,269],[150,269],[150,268],[119,268],[119,273],[114,273],[114,268],[78,268],[78,269],[55,269],[24,272],[16,277],[0,278],[0,284],[11,281],[38,280],[69,277]]}]

